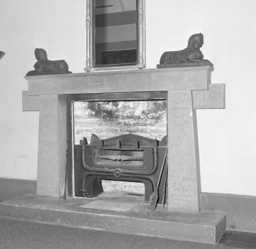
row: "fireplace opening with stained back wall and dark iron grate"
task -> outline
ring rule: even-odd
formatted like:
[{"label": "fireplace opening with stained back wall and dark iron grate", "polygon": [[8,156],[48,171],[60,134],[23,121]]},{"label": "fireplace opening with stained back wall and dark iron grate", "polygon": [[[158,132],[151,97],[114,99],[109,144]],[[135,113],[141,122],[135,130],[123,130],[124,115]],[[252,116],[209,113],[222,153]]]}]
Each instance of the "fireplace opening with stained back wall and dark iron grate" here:
[{"label": "fireplace opening with stained back wall and dark iron grate", "polygon": [[[104,191],[149,198],[152,180],[144,174],[157,161],[149,151],[167,145],[167,101],[163,97],[73,101],[72,133],[73,196],[95,197]],[[95,175],[87,164],[93,165]],[[100,171],[101,167],[112,170],[114,176],[108,170]]]}]

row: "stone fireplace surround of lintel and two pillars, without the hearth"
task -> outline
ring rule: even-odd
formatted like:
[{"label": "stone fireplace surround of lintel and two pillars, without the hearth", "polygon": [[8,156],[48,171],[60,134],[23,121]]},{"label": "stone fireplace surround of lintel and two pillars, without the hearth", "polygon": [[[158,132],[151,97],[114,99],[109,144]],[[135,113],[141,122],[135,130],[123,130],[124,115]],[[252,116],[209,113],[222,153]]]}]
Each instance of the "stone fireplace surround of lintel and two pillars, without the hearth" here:
[{"label": "stone fireplace surround of lintel and two pillars, without the hearth", "polygon": [[[64,195],[69,97],[165,91],[168,102],[168,210],[200,213],[196,109],[225,108],[225,85],[211,84],[212,71],[211,65],[203,65],[25,77],[28,91],[23,92],[23,110],[40,111],[37,196],[61,198]],[[223,217],[214,223],[215,242],[224,232]]]}]

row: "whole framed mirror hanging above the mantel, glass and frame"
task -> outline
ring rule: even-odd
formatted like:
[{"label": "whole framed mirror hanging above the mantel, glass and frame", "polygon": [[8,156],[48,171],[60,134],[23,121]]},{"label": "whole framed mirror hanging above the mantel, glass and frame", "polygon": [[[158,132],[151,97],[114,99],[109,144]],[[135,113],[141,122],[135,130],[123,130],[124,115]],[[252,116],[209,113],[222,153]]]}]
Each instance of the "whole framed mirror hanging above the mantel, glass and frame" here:
[{"label": "whole framed mirror hanging above the mantel, glass and frame", "polygon": [[86,1],[86,72],[143,69],[144,0]]}]

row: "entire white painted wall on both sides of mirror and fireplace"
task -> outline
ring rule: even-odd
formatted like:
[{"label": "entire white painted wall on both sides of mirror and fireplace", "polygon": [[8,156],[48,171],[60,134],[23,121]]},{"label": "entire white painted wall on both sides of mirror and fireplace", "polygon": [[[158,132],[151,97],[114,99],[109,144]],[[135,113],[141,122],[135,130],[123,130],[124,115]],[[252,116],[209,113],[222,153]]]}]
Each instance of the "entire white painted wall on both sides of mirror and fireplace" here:
[{"label": "entire white painted wall on both sides of mirror and fireplace", "polygon": [[[226,84],[225,110],[198,110],[202,190],[256,196],[256,2],[146,0],[147,68],[166,50],[183,49],[203,33],[212,83]],[[21,111],[23,76],[34,48],[86,65],[85,0],[1,0],[0,177],[36,179],[38,113]]]}]

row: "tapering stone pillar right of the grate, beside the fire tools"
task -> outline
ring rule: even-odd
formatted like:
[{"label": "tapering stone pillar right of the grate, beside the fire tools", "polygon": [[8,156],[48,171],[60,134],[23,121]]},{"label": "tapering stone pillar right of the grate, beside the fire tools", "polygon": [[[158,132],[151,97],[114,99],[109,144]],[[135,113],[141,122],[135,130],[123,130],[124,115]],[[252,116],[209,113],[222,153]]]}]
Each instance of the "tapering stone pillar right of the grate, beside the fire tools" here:
[{"label": "tapering stone pillar right of the grate, beside the fire tools", "polygon": [[196,111],[191,91],[168,91],[168,206],[199,212]]}]

